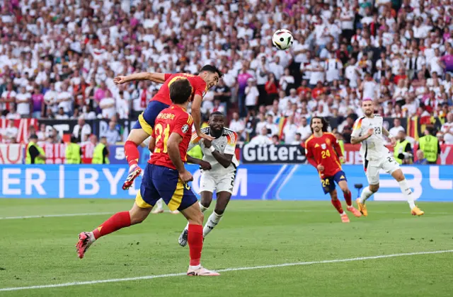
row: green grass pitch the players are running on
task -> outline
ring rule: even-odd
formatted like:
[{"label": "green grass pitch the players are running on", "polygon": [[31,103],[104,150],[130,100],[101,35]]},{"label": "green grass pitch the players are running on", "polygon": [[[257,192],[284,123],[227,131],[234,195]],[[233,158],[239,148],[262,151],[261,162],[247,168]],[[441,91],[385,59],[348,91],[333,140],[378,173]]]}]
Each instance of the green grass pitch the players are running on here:
[{"label": "green grass pitch the players are running on", "polygon": [[[232,270],[219,277],[166,276],[101,284],[4,291],[74,281],[135,278],[187,271],[180,248],[183,216],[147,221],[98,240],[83,260],[77,235],[132,200],[0,199],[1,296],[452,296],[453,204],[369,202],[367,218],[341,223],[331,203],[231,201],[208,235],[202,264],[210,269],[315,262]],[[344,205],[344,203],[343,203]],[[207,216],[212,211],[207,211]],[[96,214],[108,213],[108,214]],[[91,214],[30,219],[14,216]],[[411,252],[445,251],[348,262]]]}]

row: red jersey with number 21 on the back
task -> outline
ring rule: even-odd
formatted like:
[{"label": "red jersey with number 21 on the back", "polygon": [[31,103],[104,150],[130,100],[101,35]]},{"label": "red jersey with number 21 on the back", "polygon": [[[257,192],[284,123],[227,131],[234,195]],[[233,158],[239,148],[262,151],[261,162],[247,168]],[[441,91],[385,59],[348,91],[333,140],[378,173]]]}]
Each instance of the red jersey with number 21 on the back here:
[{"label": "red jersey with number 21 on the back", "polygon": [[167,141],[168,137],[174,132],[183,137],[179,144],[179,153],[183,162],[187,161],[187,149],[190,138],[192,137],[193,117],[182,107],[171,105],[162,110],[156,117],[153,134],[156,139],[156,147],[149,159],[149,163],[176,169],[175,165],[168,156]]}]

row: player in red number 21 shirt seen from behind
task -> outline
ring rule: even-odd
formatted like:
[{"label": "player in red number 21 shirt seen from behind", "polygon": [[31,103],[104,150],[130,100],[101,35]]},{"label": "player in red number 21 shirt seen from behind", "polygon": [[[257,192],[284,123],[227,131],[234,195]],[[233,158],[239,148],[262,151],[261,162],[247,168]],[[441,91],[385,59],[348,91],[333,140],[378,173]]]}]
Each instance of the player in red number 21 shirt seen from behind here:
[{"label": "player in red number 21 shirt seen from behind", "polygon": [[188,185],[193,176],[185,170],[183,163],[192,136],[193,117],[186,112],[186,108],[193,88],[188,79],[181,78],[171,83],[169,91],[173,105],[162,110],[156,117],[156,127],[150,141],[154,153],[144,170],[134,206],[130,211],[114,214],[93,231],[80,233],[76,245],[77,255],[83,258],[86,250],[101,236],[142,223],[156,201],[162,197],[170,210],[179,209],[189,223],[190,264],[187,274],[217,276],[217,272],[205,269],[200,264],[203,214],[197,204],[197,197]]}]

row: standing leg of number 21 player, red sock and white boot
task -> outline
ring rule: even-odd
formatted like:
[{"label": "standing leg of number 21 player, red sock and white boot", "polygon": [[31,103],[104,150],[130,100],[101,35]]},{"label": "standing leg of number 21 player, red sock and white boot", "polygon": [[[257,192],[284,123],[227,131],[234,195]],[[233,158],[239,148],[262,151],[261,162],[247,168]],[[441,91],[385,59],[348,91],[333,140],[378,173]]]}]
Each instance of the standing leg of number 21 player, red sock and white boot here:
[{"label": "standing leg of number 21 player, red sock and white boot", "polygon": [[187,275],[189,276],[218,276],[217,272],[205,269],[200,264],[201,252],[203,249],[203,216],[200,206],[192,204],[187,209],[181,211],[185,219],[188,220],[188,243],[190,263]]}]

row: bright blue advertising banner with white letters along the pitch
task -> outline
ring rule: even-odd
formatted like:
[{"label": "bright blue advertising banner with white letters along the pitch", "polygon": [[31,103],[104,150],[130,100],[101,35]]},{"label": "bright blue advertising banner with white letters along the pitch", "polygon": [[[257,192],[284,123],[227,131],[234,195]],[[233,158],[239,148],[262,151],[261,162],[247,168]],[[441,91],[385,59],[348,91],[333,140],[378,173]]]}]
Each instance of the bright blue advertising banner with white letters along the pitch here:
[{"label": "bright blue advertising banner with white letters along the pitch", "polygon": [[[200,170],[193,173],[194,192],[200,190]],[[414,198],[420,201],[453,202],[453,166],[403,166]],[[355,184],[367,185],[360,165],[343,170],[355,196]],[[1,198],[109,198],[133,199],[141,177],[130,190],[121,189],[127,176],[125,165],[3,165],[0,168]],[[398,182],[386,173],[380,175],[380,189],[374,200],[404,200]],[[341,194],[340,194],[341,197]],[[316,170],[310,165],[241,165],[234,184],[234,199],[327,200]]]}]

